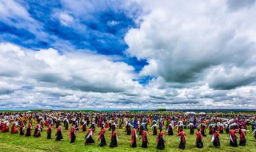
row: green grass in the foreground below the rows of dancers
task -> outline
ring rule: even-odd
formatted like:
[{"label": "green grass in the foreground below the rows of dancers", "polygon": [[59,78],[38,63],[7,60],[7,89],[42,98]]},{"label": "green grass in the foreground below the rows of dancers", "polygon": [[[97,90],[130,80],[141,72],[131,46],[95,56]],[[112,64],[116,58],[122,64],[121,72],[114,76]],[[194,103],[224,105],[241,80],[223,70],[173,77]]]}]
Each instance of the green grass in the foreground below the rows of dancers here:
[{"label": "green grass in the foreground below the rows of dancers", "polygon": [[[98,132],[100,128],[96,129],[96,134],[94,135],[94,140],[96,141],[98,138]],[[251,130],[251,128],[249,128]],[[110,148],[110,131],[106,131],[106,142],[107,146],[100,147],[98,146],[99,142],[95,142],[93,145],[85,146],[85,135],[86,132],[78,131],[76,136],[76,141],[72,144],[70,144],[70,138],[68,138],[69,130],[63,130],[63,141],[55,142],[54,140],[54,134],[55,134],[55,128],[53,127],[52,132],[52,139],[46,139],[46,128],[42,131],[42,137],[40,138],[34,138],[31,137],[25,137],[20,136],[19,134],[10,134],[9,133],[0,133],[0,151],[6,152],[6,151],[256,151],[256,139],[254,139],[253,135],[250,133],[247,133],[247,145],[245,147],[238,146],[238,147],[231,147],[229,145],[229,137],[228,134],[221,134],[221,147],[215,148],[212,146],[212,142],[210,142],[211,136],[207,135],[207,137],[203,138],[204,147],[202,149],[198,149],[195,146],[195,134],[190,135],[189,130],[186,131],[186,149],[185,150],[179,150],[178,149],[178,137],[176,136],[168,136],[165,135],[164,139],[166,141],[166,149],[165,150],[157,150],[157,142],[156,138],[157,136],[153,136],[153,131],[149,130],[148,133],[150,136],[148,137],[150,145],[147,149],[143,149],[141,147],[142,140],[137,139],[137,148],[132,148],[130,146],[130,135],[126,135],[124,130],[118,129],[118,147]],[[195,130],[196,131],[196,130]],[[34,132],[33,132],[34,133]],[[176,134],[177,131],[174,131],[174,134]],[[208,130],[206,130],[206,133],[208,134]],[[238,136],[238,134],[237,134]]]}]

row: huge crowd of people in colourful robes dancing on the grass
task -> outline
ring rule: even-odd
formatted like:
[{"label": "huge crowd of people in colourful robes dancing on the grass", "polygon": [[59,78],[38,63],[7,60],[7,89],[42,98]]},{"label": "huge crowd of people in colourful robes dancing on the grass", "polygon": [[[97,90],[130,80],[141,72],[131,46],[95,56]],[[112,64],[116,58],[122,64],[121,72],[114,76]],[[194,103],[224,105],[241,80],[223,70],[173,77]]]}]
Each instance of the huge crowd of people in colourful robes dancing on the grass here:
[{"label": "huge crowd of people in colourful robes dancing on the grass", "polygon": [[[246,146],[247,126],[251,126],[256,139],[255,114],[130,114],[128,112],[38,112],[38,113],[0,113],[0,130],[2,133],[20,134],[29,137],[33,134],[39,138],[44,127],[47,127],[47,139],[52,138],[52,127],[56,127],[55,141],[62,141],[62,130],[70,130],[70,143],[75,142],[78,130],[86,132],[85,145],[93,144],[96,129],[99,146],[106,146],[106,131],[111,131],[110,147],[118,146],[118,130],[124,128],[126,135],[131,136],[132,147],[137,146],[137,138],[142,139],[141,146],[148,147],[149,132],[157,136],[157,149],[165,149],[164,136],[172,136],[177,130],[180,149],[186,148],[186,133],[195,133],[195,143],[202,148],[202,138],[209,134],[215,147],[221,146],[220,134],[228,134],[230,146]],[[166,131],[164,130],[166,129]],[[209,132],[206,133],[206,128]],[[151,129],[151,130],[149,130]],[[239,138],[236,134],[239,134]],[[238,143],[239,142],[239,143]]]}]

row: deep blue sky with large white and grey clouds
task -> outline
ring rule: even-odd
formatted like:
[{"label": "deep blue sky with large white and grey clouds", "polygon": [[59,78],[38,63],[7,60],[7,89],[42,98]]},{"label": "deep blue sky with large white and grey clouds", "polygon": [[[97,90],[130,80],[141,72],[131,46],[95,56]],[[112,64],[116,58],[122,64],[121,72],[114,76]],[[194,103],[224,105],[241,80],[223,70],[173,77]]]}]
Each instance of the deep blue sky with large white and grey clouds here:
[{"label": "deep blue sky with large white and grey clouds", "polygon": [[255,108],[255,7],[0,0],[0,106]]}]

